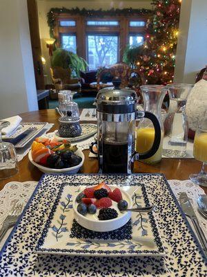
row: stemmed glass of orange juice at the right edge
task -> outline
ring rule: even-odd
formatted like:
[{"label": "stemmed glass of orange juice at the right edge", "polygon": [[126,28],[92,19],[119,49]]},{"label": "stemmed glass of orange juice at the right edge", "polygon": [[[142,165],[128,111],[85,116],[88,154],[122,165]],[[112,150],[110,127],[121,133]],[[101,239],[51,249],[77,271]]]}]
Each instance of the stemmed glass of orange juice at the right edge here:
[{"label": "stemmed glass of orange juice at the right edge", "polygon": [[205,163],[207,163],[207,112],[205,119],[197,128],[195,139],[193,143],[193,156],[198,161],[201,161],[201,172],[191,174],[190,180],[199,186],[207,186],[207,172],[205,172]]}]

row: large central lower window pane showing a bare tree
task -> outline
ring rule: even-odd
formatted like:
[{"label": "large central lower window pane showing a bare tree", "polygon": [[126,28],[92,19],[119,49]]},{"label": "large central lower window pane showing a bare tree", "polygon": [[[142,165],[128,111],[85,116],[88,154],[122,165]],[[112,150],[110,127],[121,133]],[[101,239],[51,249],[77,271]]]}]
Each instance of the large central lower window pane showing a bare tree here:
[{"label": "large central lower window pane showing a bare tree", "polygon": [[87,46],[90,70],[99,66],[109,66],[118,61],[117,35],[88,35]]}]

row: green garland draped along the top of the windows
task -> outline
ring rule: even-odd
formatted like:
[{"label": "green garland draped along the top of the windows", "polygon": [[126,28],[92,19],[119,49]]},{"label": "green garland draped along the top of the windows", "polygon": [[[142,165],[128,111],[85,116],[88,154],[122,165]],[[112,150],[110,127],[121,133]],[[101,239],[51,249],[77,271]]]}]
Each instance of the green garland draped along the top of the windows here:
[{"label": "green garland draped along the top of the windows", "polygon": [[50,37],[54,37],[54,28],[56,24],[56,15],[59,15],[61,13],[65,13],[68,15],[81,15],[85,17],[113,17],[113,16],[146,16],[146,15],[152,15],[152,10],[148,9],[133,9],[133,8],[124,8],[124,9],[115,9],[112,8],[110,10],[86,10],[86,8],[79,9],[79,8],[51,8],[48,12],[48,26],[50,27]]}]

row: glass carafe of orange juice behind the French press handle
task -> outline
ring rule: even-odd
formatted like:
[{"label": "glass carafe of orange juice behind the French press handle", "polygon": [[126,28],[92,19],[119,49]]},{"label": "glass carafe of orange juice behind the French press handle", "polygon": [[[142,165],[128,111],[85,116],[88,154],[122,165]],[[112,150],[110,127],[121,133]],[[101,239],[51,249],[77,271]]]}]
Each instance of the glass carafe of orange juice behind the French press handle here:
[{"label": "glass carafe of orange juice behind the French press handle", "polygon": [[[150,158],[142,160],[144,163],[157,163],[161,160],[162,143],[164,138],[164,125],[161,120],[161,104],[166,95],[166,87],[161,85],[141,86],[141,93],[144,99],[144,110],[157,116],[161,127],[161,141],[157,152]],[[142,118],[137,127],[136,151],[147,152],[155,139],[155,128],[148,118]]]}]

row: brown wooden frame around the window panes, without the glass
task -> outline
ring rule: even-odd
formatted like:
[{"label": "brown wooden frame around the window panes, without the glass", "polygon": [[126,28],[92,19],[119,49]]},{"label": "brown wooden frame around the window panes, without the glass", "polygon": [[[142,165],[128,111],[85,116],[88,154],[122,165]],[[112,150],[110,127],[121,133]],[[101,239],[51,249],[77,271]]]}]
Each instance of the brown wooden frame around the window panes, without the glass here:
[{"label": "brown wooden frame around the window panes, without the glass", "polygon": [[[129,42],[130,34],[146,33],[146,27],[130,27],[130,21],[147,21],[148,16],[114,16],[114,17],[86,17],[82,15],[70,15],[68,13],[61,13],[55,15],[54,36],[57,39],[57,46],[61,47],[61,34],[72,33],[76,35],[77,55],[87,60],[87,35],[88,34],[114,34],[119,37],[118,62],[122,61],[124,48]],[[72,20],[76,21],[75,26],[60,26],[59,21]],[[119,26],[88,26],[87,21],[119,21]]]}]

